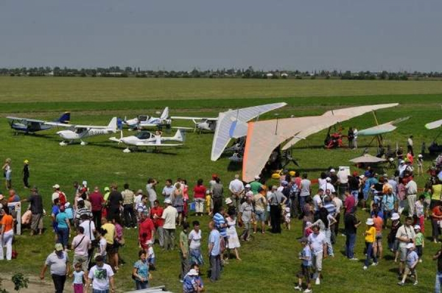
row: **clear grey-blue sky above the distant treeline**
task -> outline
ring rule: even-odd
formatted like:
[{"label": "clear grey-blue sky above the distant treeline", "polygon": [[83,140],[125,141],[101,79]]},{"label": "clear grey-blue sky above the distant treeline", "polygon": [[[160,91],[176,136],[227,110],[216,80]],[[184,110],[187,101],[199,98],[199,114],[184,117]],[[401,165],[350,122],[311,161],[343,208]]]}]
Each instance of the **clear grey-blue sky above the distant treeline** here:
[{"label": "clear grey-blue sky above the distant treeline", "polygon": [[0,67],[442,71],[440,0],[2,0]]}]

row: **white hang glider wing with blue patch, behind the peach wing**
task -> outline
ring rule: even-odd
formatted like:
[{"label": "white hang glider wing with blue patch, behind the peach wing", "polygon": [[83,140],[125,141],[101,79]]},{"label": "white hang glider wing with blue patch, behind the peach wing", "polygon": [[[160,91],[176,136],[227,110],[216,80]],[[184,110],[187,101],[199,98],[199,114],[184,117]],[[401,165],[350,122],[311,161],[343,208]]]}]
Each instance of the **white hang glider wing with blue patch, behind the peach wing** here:
[{"label": "white hang glider wing with blue patch, behind the peach wing", "polygon": [[217,128],[213,137],[211,160],[215,161],[220,158],[230,138],[238,138],[247,134],[249,120],[285,105],[287,104],[274,103],[221,112],[218,115]]}]

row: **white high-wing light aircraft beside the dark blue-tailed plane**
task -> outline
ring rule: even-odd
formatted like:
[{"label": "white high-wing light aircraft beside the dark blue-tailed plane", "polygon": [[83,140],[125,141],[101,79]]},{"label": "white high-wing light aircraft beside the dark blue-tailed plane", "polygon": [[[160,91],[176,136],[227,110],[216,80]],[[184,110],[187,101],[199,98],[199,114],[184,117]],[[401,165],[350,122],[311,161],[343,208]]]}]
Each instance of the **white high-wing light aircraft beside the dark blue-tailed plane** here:
[{"label": "white high-wing light aircraft beside the dark blue-tailed plane", "polygon": [[[61,124],[57,122],[46,122],[46,125],[51,126],[61,126],[70,128],[69,130],[62,130],[57,132],[57,134],[63,139],[60,142],[61,146],[72,143],[74,140],[80,140],[81,145],[86,145],[87,143],[83,141],[83,138],[104,135],[109,133],[116,133],[117,131],[117,117],[113,117],[108,126],[94,126],[94,125],[71,125],[71,124]],[[69,142],[66,143],[65,140]]]}]

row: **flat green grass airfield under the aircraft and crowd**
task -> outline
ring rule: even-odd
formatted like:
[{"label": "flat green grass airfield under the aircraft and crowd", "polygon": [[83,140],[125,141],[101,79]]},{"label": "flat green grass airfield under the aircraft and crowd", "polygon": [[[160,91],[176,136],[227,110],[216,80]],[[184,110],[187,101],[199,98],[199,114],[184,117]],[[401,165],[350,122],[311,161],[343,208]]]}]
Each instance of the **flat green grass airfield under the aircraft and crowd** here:
[{"label": "flat green grass airfield under the aircraft and crowd", "polygon": [[[166,150],[162,154],[135,152],[122,153],[123,147],[98,136],[88,140],[87,146],[79,144],[60,147],[56,130],[37,135],[14,135],[4,119],[11,113],[20,116],[52,119],[59,112],[70,110],[71,122],[106,125],[113,115],[128,117],[138,113],[153,113],[169,106],[171,115],[216,116],[219,110],[247,107],[256,104],[285,101],[289,105],[275,112],[279,117],[290,115],[305,116],[322,114],[332,108],[349,105],[366,105],[399,102],[399,107],[377,112],[379,123],[399,117],[412,116],[401,123],[398,129],[386,135],[386,142],[395,147],[396,143],[406,145],[408,135],[414,135],[416,152],[420,144],[427,145],[438,131],[428,131],[425,123],[440,119],[442,83],[438,81],[341,81],[341,80],[165,80],[165,79],[81,79],[81,78],[0,78],[0,133],[2,158],[11,158],[13,185],[23,197],[28,191],[21,184],[22,161],[28,159],[31,168],[31,185],[40,188],[45,207],[50,208],[50,197],[55,183],[62,186],[70,199],[73,197],[72,182],[87,180],[90,186],[108,186],[116,182],[119,186],[129,183],[132,188],[144,189],[149,177],[157,178],[162,188],[167,178],[186,178],[193,188],[198,178],[208,182],[212,173],[218,173],[224,186],[233,175],[241,172],[240,166],[229,166],[226,158],[210,161],[212,134],[188,133],[185,145]],[[274,113],[263,115],[271,119]],[[175,123],[175,122],[173,122]],[[344,128],[357,126],[363,129],[374,125],[373,115],[366,114],[343,123]],[[175,125],[190,126],[188,123]],[[125,131],[125,135],[129,132]],[[173,133],[173,132],[172,132]],[[171,133],[171,134],[172,134]],[[360,137],[359,150],[322,148],[326,131],[317,133],[295,145],[293,156],[298,159],[300,172],[308,172],[310,178],[329,166],[349,165],[348,160],[359,156],[371,138]],[[370,148],[375,154],[375,145]],[[425,158],[430,164],[430,158]],[[351,166],[352,170],[355,169]],[[391,173],[391,171],[389,171]],[[419,187],[425,178],[417,179]],[[270,182],[269,182],[270,183]],[[316,190],[316,186],[313,187]],[[0,188],[4,190],[4,187]],[[358,213],[363,220],[367,214]],[[195,219],[193,215],[190,221]],[[200,219],[200,218],[198,218]],[[206,249],[208,217],[203,220],[204,249]],[[342,226],[342,222],[341,222]],[[49,217],[46,218],[49,227]],[[426,236],[431,235],[429,223]],[[362,259],[363,237],[359,229],[357,257]],[[0,263],[0,273],[24,272],[37,275],[47,254],[51,252],[54,235],[51,231],[41,237],[17,237],[19,257],[14,266]],[[178,231],[177,231],[178,233]],[[231,260],[225,267],[221,281],[211,284],[204,279],[208,292],[293,292],[295,274],[299,268],[296,256],[300,250],[297,237],[301,235],[300,222],[295,220],[291,231],[282,235],[256,235],[250,243],[242,243],[242,262]],[[137,258],[137,235],[134,230],[125,230],[127,245],[121,249],[127,265],[116,276],[120,292],[134,288],[131,279],[131,264]],[[427,242],[424,262],[419,264],[419,286],[411,284],[401,292],[431,292],[434,284],[436,264],[431,255],[439,245]],[[348,262],[341,254],[344,237],[339,236],[334,259],[324,263],[324,280],[314,286],[314,292],[353,293],[396,291],[396,265],[391,253],[385,249],[385,258],[377,267],[362,270],[362,263]],[[384,240],[384,246],[387,246]],[[156,255],[158,270],[153,272],[152,285],[165,284],[173,292],[180,292],[177,280],[179,256],[177,251],[163,252],[158,247]],[[206,251],[206,250],[204,250]],[[206,258],[207,260],[207,258]],[[207,266],[203,268],[205,271]]]}]

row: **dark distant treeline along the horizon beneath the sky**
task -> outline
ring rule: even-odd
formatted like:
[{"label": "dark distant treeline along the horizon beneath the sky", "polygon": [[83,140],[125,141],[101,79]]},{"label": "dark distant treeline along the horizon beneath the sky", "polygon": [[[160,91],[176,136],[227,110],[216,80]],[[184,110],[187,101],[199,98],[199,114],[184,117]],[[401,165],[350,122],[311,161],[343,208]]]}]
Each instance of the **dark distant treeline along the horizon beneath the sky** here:
[{"label": "dark distant treeline along the horizon beneath the sky", "polygon": [[140,70],[135,67],[111,66],[108,68],[67,68],[67,67],[22,67],[0,68],[1,76],[27,77],[113,77],[113,78],[243,78],[243,79],[342,79],[342,80],[418,80],[439,79],[442,72],[370,72],[370,71],[291,71],[291,70],[255,70],[247,69],[217,69],[192,71]]}]

